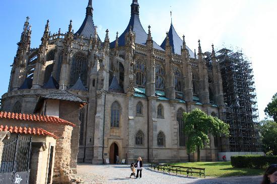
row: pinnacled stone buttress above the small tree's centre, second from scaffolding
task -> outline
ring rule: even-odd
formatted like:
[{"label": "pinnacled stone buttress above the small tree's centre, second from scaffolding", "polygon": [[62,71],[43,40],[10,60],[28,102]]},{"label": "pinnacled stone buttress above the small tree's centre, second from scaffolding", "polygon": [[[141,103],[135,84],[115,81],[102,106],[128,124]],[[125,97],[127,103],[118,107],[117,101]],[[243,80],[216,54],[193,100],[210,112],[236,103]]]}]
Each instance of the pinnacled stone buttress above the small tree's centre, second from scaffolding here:
[{"label": "pinnacled stone buttress above the small tree's centre, second from scaffolding", "polygon": [[209,104],[209,76],[207,74],[207,66],[203,59],[200,40],[198,40],[198,69],[199,69],[199,98],[203,104]]}]

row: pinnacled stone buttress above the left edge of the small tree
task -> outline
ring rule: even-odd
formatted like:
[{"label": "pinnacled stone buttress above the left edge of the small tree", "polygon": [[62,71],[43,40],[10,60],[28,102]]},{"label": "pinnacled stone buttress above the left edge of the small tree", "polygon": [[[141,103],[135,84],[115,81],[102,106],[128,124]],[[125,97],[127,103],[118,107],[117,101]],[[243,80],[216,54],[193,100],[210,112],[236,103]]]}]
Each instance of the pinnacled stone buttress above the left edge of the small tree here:
[{"label": "pinnacled stone buttress above the left edge of the small tree", "polygon": [[189,61],[188,50],[186,49],[185,36],[183,36],[183,46],[181,49],[182,64],[183,64],[183,96],[185,101],[193,101],[193,89],[192,89],[192,70],[191,63]]}]

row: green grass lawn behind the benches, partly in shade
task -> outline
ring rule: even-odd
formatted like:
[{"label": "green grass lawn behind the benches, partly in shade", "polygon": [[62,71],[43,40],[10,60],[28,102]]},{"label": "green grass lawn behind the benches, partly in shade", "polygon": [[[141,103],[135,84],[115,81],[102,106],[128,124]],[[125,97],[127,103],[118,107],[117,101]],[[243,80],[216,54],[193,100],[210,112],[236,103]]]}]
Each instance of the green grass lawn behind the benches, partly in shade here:
[{"label": "green grass lawn behind the benches, partly in shade", "polygon": [[[205,175],[210,177],[227,177],[227,176],[246,176],[246,175],[263,175],[263,169],[234,168],[231,162],[188,162],[173,163],[171,165],[181,165],[186,167],[206,168]],[[193,176],[197,176],[196,173]],[[198,174],[199,176],[199,174]]]}]

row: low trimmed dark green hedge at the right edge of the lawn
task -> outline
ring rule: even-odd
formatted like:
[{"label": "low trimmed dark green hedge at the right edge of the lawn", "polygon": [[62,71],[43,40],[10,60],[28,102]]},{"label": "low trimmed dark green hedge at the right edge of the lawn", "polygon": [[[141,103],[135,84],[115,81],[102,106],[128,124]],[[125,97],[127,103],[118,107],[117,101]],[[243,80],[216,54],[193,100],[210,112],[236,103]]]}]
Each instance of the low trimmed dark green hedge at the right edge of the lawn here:
[{"label": "low trimmed dark green hedge at the right edge of the lawn", "polygon": [[270,164],[277,163],[277,156],[238,155],[231,156],[233,167],[266,169]]}]

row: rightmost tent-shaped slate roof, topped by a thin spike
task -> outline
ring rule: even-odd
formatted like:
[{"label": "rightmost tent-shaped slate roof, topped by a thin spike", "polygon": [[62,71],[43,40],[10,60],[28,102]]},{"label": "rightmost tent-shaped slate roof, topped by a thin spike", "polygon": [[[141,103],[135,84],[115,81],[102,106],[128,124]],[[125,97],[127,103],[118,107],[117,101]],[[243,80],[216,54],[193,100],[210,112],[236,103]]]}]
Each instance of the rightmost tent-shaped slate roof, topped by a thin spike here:
[{"label": "rightmost tent-shaped slate roof, topped by a thin spike", "polygon": [[[183,40],[176,33],[172,23],[168,31],[168,37],[169,37],[169,44],[172,47],[172,52],[174,54],[181,55],[181,46],[183,46]],[[165,49],[165,45],[166,45],[166,38],[164,39],[161,47]],[[190,50],[190,48],[188,48],[187,46],[186,46],[186,49],[188,50],[189,57],[194,58],[194,52],[192,52],[192,50]]]}]

